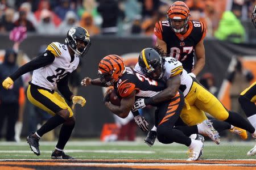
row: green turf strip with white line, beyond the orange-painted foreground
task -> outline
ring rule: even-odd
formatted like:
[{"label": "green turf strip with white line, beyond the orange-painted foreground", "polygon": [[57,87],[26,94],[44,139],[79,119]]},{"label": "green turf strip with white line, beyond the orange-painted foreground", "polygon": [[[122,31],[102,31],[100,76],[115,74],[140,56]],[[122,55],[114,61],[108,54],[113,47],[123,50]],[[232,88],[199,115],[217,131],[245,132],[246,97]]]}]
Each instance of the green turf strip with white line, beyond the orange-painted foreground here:
[{"label": "green turf strip with white line, beyond the orange-painted foreground", "polygon": [[[50,159],[56,142],[40,142],[41,155],[32,153],[26,142],[0,142],[0,159]],[[203,159],[256,159],[247,156],[256,142],[205,142]],[[71,141],[65,152],[77,159],[186,159],[187,147],[156,142],[148,147],[140,142]]]}]

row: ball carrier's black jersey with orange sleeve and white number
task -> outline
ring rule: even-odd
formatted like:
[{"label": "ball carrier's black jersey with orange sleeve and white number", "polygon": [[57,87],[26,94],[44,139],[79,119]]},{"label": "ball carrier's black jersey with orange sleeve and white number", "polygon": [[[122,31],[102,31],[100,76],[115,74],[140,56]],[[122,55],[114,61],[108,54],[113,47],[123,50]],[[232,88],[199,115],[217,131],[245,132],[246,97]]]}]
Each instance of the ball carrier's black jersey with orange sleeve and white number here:
[{"label": "ball carrier's black jersey with orange sleeve and white number", "polygon": [[166,84],[139,74],[131,67],[126,67],[126,72],[118,82],[114,83],[114,88],[120,97],[127,97],[134,90],[137,92],[137,97],[152,97],[164,90]]}]

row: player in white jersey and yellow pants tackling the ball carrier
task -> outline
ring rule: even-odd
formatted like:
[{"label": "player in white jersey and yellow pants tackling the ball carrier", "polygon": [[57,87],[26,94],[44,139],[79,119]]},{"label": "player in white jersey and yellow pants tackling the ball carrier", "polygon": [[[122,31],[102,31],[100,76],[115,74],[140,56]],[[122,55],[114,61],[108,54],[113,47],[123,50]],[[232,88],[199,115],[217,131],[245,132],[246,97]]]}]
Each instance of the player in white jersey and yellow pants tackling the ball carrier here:
[{"label": "player in white jersey and yellow pants tackling the ball carrier", "polygon": [[[185,105],[181,111],[180,117],[188,126],[196,125],[207,120],[204,113],[207,112],[217,120],[224,121],[213,120],[213,126],[215,124],[214,128],[216,130],[222,131],[230,129],[234,133],[239,134],[242,139],[247,138],[247,133],[245,131],[247,130],[253,134],[254,138],[256,138],[256,131],[253,126],[241,117],[240,114],[228,111],[228,109],[226,109],[214,95],[205,90],[195,78],[188,75],[187,71],[183,69],[183,66],[179,61],[172,57],[166,57],[159,60],[158,58],[160,55],[158,53],[158,55],[156,55],[155,52],[156,51],[152,48],[143,49],[139,56],[138,63],[135,66],[135,70],[152,79],[163,80],[166,82],[167,88],[154,97],[138,99],[135,101],[133,111],[144,108],[146,105],[152,105],[155,102],[162,101],[170,96],[174,96],[177,88],[179,88],[183,91],[185,96]],[[163,66],[159,67],[159,64]],[[176,73],[177,70],[180,70],[180,77],[173,74]],[[154,135],[150,135],[150,140],[147,140],[146,138],[145,142],[149,146],[152,146],[155,141],[155,138],[152,138],[152,136],[156,137],[156,127],[154,126],[149,133],[154,133]]]}]

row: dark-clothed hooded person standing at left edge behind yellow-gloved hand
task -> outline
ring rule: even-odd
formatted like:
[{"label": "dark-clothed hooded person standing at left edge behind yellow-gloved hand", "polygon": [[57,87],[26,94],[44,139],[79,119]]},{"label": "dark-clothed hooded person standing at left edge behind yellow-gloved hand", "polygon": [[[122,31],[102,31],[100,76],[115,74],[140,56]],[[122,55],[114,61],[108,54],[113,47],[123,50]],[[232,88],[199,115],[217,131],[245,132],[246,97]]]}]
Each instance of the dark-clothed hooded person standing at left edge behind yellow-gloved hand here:
[{"label": "dark-clothed hooded person standing at left edge behind yellow-gloved hand", "polygon": [[[5,60],[0,65],[0,81],[2,82],[8,75],[13,74],[17,69],[16,65],[17,54],[13,49],[6,50]],[[24,104],[24,88],[22,78],[9,90],[0,87],[0,131],[3,129],[3,123],[7,119],[6,141],[15,141],[15,123],[18,120],[19,105]]]}]

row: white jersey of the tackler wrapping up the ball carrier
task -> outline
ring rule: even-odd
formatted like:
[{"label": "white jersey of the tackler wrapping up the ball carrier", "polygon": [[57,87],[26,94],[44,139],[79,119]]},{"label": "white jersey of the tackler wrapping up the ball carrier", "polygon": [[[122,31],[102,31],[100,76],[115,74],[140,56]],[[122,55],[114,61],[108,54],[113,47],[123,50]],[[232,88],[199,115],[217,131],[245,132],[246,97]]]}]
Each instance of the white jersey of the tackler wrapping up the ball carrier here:
[{"label": "white jersey of the tackler wrapping up the ball carrier", "polygon": [[[170,77],[181,73],[180,90],[183,91],[184,96],[187,96],[192,86],[193,79],[190,75],[188,75],[187,71],[183,69],[182,63],[180,61],[177,61],[177,59],[172,57],[166,57],[164,58],[164,60],[164,67],[166,70],[164,72],[162,80],[166,82]],[[141,68],[139,67],[139,63],[136,64],[134,70],[143,74]]]}]

